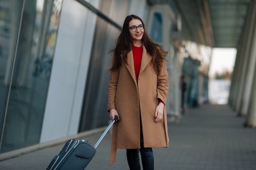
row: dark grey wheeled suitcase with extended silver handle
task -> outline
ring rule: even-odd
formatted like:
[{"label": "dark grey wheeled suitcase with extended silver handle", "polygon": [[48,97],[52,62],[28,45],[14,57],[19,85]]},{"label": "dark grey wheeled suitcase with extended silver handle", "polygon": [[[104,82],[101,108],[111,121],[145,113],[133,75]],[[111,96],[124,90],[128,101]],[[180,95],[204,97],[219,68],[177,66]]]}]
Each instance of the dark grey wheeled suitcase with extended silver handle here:
[{"label": "dark grey wheeled suitcase with extended silver handle", "polygon": [[92,146],[90,141],[83,139],[68,140],[61,152],[52,159],[46,170],[84,170],[94,157],[97,146],[117,118],[115,116],[115,119],[108,125],[108,128],[106,128],[94,146]]}]

